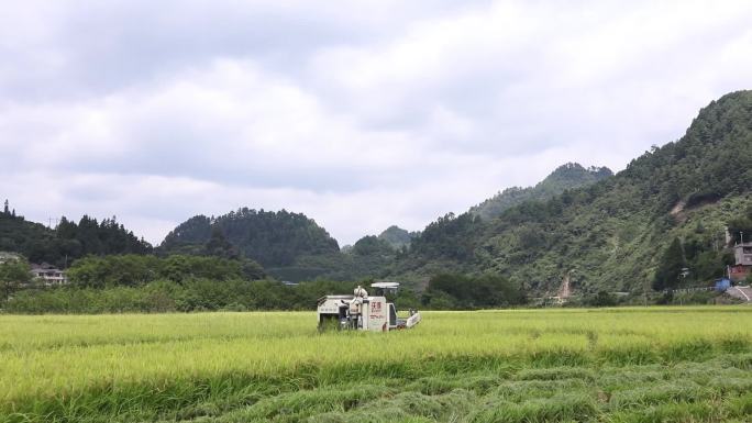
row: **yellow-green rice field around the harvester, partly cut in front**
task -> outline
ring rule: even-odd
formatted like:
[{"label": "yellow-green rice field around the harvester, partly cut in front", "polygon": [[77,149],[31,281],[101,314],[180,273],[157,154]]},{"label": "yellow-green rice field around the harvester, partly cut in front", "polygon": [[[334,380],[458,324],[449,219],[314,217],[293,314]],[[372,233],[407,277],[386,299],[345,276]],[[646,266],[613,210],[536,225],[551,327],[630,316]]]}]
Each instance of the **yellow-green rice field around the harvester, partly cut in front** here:
[{"label": "yellow-green rice field around the harvester, partly cut in front", "polygon": [[752,308],[0,315],[0,422],[750,422]]}]

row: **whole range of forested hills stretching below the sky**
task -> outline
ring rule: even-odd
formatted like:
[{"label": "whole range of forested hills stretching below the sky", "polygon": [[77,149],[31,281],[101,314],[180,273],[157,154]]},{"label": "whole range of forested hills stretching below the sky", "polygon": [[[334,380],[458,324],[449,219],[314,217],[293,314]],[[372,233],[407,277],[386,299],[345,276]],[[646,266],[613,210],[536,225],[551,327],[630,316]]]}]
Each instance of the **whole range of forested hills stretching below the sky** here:
[{"label": "whole range of forested hills stretching below the sky", "polygon": [[[155,253],[248,259],[290,281],[388,278],[422,290],[442,274],[494,274],[529,297],[555,293],[565,278],[575,293],[638,294],[721,277],[732,260],[727,226],[752,233],[752,91],[712,101],[684,136],[616,176],[566,164],[535,187],[505,190],[421,232],[391,226],[340,251],[302,213],[243,208],[189,219]],[[0,251],[64,265],[152,248],[114,218],[63,219],[53,231],[4,210]]]}]

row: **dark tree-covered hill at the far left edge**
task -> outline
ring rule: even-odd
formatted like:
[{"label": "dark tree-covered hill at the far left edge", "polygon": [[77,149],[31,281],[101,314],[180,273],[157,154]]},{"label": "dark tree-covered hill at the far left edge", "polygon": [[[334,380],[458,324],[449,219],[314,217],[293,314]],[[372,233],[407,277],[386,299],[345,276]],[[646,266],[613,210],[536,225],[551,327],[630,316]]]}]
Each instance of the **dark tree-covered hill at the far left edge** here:
[{"label": "dark tree-covered hill at the far left edge", "polygon": [[0,213],[0,251],[23,254],[32,263],[65,266],[87,255],[147,254],[152,246],[115,218],[98,222],[85,215],[76,223],[64,216],[49,229],[15,215],[5,205]]}]

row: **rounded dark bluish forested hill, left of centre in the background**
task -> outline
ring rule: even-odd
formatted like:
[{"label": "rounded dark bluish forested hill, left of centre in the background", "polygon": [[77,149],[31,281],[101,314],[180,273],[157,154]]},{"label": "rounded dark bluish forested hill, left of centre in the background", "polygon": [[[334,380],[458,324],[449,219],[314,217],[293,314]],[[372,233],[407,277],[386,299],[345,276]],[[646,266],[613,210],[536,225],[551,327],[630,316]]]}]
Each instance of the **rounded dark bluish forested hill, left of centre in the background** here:
[{"label": "rounded dark bluish forested hill, left of centre in the background", "polygon": [[264,267],[289,266],[300,256],[339,253],[336,240],[301,213],[243,208],[219,218],[197,215],[158,247],[165,254],[252,258]]}]

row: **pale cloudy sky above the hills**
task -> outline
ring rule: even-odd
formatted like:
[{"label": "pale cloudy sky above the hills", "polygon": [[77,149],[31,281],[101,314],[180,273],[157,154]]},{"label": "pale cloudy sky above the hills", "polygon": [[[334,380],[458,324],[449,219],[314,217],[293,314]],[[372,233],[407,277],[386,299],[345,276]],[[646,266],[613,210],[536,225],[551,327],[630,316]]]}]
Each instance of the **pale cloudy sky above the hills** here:
[{"label": "pale cloudy sky above the hills", "polygon": [[158,243],[239,207],[352,243],[566,162],[622,169],[752,81],[750,1],[48,1],[0,14],[0,196]]}]

